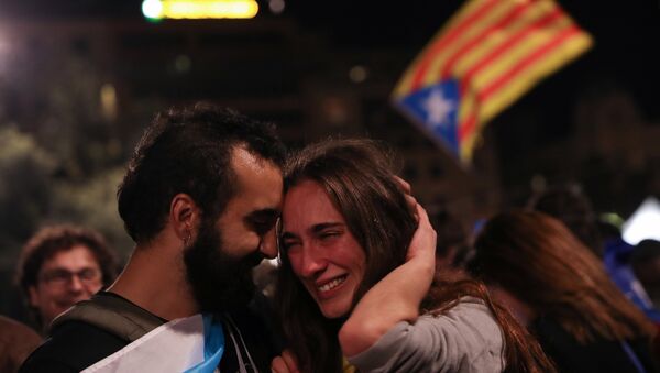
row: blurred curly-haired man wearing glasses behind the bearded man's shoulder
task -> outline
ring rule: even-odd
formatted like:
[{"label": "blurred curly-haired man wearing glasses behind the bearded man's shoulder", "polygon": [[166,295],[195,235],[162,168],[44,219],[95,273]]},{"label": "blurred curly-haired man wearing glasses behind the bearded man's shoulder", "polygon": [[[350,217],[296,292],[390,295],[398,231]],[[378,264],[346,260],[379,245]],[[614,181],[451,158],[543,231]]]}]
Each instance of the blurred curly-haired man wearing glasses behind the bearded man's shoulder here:
[{"label": "blurred curly-haired man wearing glasses behind the bearded man's shoulder", "polygon": [[119,273],[117,255],[100,233],[75,226],[51,226],[23,246],[18,283],[37,328],[89,299]]}]

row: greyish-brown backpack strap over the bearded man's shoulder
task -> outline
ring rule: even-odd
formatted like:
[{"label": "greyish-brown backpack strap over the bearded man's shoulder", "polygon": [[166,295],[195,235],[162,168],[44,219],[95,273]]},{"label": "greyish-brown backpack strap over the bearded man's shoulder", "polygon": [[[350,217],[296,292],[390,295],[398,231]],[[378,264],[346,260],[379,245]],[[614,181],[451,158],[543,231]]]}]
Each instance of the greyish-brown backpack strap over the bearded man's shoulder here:
[{"label": "greyish-brown backpack strap over the bearded man's shoulder", "polygon": [[79,301],[53,320],[51,330],[55,330],[68,321],[92,325],[128,342],[132,342],[163,325],[163,320],[145,309],[125,299],[107,295],[95,295],[89,300]]}]

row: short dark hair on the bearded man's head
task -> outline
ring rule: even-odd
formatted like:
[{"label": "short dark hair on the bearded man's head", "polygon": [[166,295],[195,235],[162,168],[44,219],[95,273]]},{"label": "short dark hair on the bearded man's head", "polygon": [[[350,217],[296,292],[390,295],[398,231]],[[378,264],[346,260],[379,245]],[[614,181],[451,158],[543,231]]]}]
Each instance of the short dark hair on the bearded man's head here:
[{"label": "short dark hair on the bearded man's head", "polygon": [[135,242],[153,239],[165,226],[172,198],[184,193],[215,219],[235,193],[231,151],[284,163],[275,127],[209,103],[156,116],[144,132],[117,193],[119,215]]}]

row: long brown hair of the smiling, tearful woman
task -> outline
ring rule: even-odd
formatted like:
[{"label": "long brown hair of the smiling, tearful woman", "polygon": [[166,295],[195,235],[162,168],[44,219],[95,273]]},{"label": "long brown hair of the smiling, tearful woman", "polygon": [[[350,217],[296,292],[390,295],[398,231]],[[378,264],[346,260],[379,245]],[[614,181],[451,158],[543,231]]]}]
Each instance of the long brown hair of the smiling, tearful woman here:
[{"label": "long brown hair of the smiling, tearful woman", "polygon": [[[285,168],[285,190],[302,180],[318,183],[363,248],[366,271],[354,303],[405,262],[407,246],[417,229],[405,193],[393,177],[392,160],[391,153],[373,141],[336,140],[304,149]],[[341,372],[342,354],[337,336],[344,319],[326,319],[295,276],[285,250],[280,252],[280,261],[275,305],[300,369]],[[507,372],[554,371],[536,340],[508,311],[494,306],[485,287],[475,281],[458,281],[449,273],[438,277],[421,310],[442,314],[464,296],[483,299],[493,311],[504,336]]]}]

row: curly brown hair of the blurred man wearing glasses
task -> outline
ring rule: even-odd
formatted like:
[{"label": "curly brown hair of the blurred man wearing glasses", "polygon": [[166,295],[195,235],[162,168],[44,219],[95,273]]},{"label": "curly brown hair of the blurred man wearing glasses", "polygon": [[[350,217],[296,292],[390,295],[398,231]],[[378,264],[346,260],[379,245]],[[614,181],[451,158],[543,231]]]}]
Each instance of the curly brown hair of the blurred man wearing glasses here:
[{"label": "curly brown hair of the blurred man wearing glasses", "polygon": [[103,286],[114,281],[120,270],[119,260],[99,232],[72,224],[50,226],[34,233],[21,252],[16,282],[25,299],[29,299],[30,286],[36,286],[44,262],[76,245],[86,246],[91,251],[101,268]]}]

